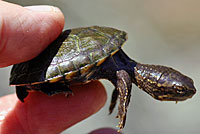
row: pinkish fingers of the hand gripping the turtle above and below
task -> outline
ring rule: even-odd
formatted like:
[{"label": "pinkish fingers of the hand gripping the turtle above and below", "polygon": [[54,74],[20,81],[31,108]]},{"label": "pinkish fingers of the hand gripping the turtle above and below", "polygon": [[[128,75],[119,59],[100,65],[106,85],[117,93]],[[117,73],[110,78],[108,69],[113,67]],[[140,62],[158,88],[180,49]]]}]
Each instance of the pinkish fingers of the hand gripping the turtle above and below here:
[{"label": "pinkish fingers of the hand gripping the turtle above and below", "polygon": [[[24,8],[0,1],[0,67],[34,58],[58,37],[63,27],[64,16],[58,8]],[[1,97],[0,133],[58,134],[96,113],[106,102],[106,91],[98,81],[70,88],[73,96],[31,92],[24,103],[15,94]],[[116,133],[106,128],[92,134],[111,131]]]}]

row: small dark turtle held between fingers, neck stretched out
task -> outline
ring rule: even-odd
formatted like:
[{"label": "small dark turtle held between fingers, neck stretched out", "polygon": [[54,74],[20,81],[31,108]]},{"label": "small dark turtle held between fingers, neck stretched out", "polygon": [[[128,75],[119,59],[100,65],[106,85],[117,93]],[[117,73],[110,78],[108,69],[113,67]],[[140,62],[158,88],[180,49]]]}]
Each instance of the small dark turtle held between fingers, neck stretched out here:
[{"label": "small dark turtle held between fingers, neck stretched out", "polygon": [[15,64],[10,85],[24,102],[30,91],[49,96],[71,94],[71,85],[107,79],[114,85],[109,113],[119,100],[118,127],[126,122],[132,83],[161,101],[183,101],[196,89],[188,76],[171,67],[136,62],[122,50],[127,33],[111,27],[90,26],[65,30],[32,60]]}]

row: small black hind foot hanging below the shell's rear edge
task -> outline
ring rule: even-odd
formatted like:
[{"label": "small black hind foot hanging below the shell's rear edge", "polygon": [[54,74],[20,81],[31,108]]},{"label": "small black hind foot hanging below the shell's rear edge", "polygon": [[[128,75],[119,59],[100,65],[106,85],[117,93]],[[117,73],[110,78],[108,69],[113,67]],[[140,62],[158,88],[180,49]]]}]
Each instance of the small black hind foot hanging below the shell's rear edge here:
[{"label": "small black hind foot hanging below the shell's rear edge", "polygon": [[26,89],[25,86],[16,86],[16,94],[21,102],[24,102],[24,99],[28,96]]}]

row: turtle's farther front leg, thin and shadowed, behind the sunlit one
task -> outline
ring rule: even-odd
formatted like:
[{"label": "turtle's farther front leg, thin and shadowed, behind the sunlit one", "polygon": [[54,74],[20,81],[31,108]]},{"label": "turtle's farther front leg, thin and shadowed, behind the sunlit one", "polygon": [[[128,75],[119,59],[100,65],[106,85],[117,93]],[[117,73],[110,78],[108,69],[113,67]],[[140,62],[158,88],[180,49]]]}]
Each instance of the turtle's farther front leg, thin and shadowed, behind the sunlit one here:
[{"label": "turtle's farther front leg, thin and shadowed, behind the sunlit one", "polygon": [[112,93],[111,103],[110,103],[110,107],[109,107],[109,114],[111,114],[111,113],[113,112],[113,109],[114,109],[115,106],[116,106],[117,99],[118,99],[118,95],[119,95],[119,92],[118,92],[118,90],[115,88],[115,89],[113,90],[113,93]]}]

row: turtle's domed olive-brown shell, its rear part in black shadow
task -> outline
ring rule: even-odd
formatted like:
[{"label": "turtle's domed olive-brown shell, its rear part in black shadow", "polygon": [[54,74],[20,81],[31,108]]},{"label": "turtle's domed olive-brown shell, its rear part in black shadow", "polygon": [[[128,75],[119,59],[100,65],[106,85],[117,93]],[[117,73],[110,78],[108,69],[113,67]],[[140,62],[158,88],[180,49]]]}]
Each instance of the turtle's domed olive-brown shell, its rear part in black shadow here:
[{"label": "turtle's domed olive-brown shell, its rear part in black shadow", "polygon": [[36,58],[16,64],[10,85],[84,82],[107,57],[126,41],[126,32],[109,27],[84,27],[64,31]]}]

